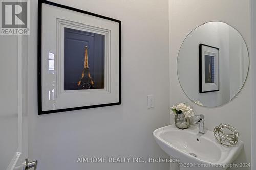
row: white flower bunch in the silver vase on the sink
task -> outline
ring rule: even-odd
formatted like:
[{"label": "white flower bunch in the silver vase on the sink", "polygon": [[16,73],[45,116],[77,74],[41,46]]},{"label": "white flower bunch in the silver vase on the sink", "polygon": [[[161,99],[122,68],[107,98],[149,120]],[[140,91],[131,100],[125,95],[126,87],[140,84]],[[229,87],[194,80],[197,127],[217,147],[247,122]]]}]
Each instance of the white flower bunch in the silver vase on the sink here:
[{"label": "white flower bunch in the silver vase on the sink", "polygon": [[184,114],[186,118],[194,116],[194,112],[191,107],[184,103],[179,103],[178,105],[171,107],[170,110],[174,113],[174,115]]}]

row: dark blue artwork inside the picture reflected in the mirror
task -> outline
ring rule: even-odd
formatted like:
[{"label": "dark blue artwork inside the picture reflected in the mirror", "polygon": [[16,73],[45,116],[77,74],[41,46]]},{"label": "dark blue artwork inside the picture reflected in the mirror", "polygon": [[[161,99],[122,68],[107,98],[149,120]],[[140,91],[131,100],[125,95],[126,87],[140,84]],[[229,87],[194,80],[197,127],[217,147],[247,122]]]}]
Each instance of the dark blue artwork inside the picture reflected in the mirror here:
[{"label": "dark blue artwork inside the picture reflected in the mirror", "polygon": [[[204,70],[205,70],[205,83],[214,83],[214,56],[205,55],[204,57]],[[209,72],[209,65],[211,66],[211,72]],[[211,80],[208,81],[208,76],[211,74]]]}]

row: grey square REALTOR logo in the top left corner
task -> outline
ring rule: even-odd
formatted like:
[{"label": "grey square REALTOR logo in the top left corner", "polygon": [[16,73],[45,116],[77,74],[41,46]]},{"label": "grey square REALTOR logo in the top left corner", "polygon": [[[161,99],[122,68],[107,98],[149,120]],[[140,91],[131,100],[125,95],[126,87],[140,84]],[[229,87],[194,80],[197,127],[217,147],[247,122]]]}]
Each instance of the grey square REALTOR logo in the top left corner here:
[{"label": "grey square REALTOR logo in the top left corner", "polygon": [[0,35],[29,35],[29,1],[1,0]]}]

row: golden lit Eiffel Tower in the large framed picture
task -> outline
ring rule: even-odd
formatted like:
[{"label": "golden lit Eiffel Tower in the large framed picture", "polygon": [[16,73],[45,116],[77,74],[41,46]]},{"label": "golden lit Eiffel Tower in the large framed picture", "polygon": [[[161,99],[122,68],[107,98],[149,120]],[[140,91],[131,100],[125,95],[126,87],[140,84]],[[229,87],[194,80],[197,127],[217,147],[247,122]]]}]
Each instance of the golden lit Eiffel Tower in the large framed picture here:
[{"label": "golden lit Eiffel Tower in the large framed picture", "polygon": [[83,66],[83,70],[82,70],[82,77],[77,82],[77,85],[78,85],[78,87],[80,87],[82,89],[94,88],[94,81],[91,78],[91,74],[89,71],[87,46],[86,46],[86,51],[84,54],[84,66]]}]

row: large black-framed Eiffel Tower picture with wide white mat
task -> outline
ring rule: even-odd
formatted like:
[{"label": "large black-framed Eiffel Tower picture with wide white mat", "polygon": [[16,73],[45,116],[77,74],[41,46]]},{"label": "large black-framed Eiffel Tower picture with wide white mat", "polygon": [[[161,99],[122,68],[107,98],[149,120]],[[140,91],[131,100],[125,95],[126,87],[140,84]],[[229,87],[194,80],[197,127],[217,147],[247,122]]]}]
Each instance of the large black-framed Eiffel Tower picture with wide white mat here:
[{"label": "large black-framed Eiffel Tower picture with wide white mat", "polygon": [[121,104],[121,21],[38,2],[38,114]]}]

